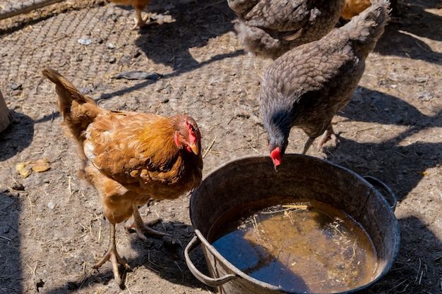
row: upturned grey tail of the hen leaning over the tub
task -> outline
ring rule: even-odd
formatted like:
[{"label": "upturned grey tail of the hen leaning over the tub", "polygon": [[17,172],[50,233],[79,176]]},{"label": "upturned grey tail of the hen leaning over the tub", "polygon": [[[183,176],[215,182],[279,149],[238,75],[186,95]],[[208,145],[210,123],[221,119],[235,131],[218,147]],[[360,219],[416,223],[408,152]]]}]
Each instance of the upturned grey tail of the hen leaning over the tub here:
[{"label": "upturned grey tail of the hen leaning over the tub", "polygon": [[357,48],[367,54],[374,49],[390,20],[390,11],[389,1],[371,0],[371,6],[345,25],[350,39],[361,43]]}]

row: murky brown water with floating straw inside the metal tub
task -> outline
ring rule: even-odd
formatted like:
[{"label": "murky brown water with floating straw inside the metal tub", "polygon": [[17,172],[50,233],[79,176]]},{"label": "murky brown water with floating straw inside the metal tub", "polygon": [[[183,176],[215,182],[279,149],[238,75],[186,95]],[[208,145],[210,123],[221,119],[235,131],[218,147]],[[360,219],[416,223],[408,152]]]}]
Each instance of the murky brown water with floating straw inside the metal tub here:
[{"label": "murky brown water with floating straw inside the metal tub", "polygon": [[222,227],[216,250],[249,276],[285,290],[340,293],[374,278],[376,252],[369,236],[327,204],[278,205]]}]

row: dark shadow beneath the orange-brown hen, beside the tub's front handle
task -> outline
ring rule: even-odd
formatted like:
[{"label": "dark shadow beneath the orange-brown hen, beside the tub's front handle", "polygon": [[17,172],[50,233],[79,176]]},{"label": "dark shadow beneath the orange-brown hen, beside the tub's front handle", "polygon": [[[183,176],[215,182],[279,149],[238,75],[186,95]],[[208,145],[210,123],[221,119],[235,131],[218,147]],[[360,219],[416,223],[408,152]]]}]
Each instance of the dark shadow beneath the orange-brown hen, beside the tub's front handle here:
[{"label": "dark shadow beneath the orange-brown hen, beside the tub's front handle", "polygon": [[[136,233],[127,233],[124,238],[131,238],[131,246],[127,249],[133,251],[136,256],[128,259],[124,257],[124,254],[122,255],[125,261],[131,266],[130,271],[138,267],[145,267],[157,274],[160,278],[171,283],[192,288],[210,289],[210,287],[198,281],[193,274],[191,274],[184,258],[184,248],[194,235],[193,227],[186,223],[169,221],[157,224],[153,228],[157,231],[164,231],[166,229],[167,233],[173,235],[173,238],[154,238],[148,236],[148,240],[144,241],[138,238]],[[198,248],[192,253],[192,261],[198,269],[208,275],[208,269],[201,248]],[[129,275],[129,272],[120,266],[120,274],[124,281],[126,276]],[[89,274],[86,274],[83,279],[66,281],[64,285],[50,290],[48,294],[71,293],[72,291],[88,288],[88,285],[95,283],[104,285],[114,283],[114,274],[109,263],[100,269],[89,270]],[[118,288],[116,284],[114,284],[113,287]],[[123,284],[120,288],[124,290],[126,286]]]}]

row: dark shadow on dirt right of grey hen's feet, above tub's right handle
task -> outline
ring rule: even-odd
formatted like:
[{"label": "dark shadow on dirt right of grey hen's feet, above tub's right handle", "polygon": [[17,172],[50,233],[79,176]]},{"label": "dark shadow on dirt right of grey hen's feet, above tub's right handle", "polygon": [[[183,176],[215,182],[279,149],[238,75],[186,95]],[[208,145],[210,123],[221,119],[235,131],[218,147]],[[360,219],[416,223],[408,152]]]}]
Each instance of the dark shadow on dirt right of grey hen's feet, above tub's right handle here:
[{"label": "dark shadow on dirt right of grey hen's feet, above tub's right handle", "polygon": [[[364,98],[362,98],[364,97]],[[414,106],[397,97],[358,87],[354,99],[340,116],[350,121],[377,123],[370,128],[388,130],[391,125],[407,126],[399,135],[381,138],[381,143],[360,143],[345,139],[341,130],[338,147],[326,147],[328,159],[362,176],[378,176],[403,200],[424,177],[424,171],[442,164],[442,143],[407,143],[407,137],[442,126],[442,110],[434,116],[426,116]],[[358,135],[363,135],[358,133]],[[392,130],[393,133],[393,130]],[[333,149],[333,151],[331,150]]]}]

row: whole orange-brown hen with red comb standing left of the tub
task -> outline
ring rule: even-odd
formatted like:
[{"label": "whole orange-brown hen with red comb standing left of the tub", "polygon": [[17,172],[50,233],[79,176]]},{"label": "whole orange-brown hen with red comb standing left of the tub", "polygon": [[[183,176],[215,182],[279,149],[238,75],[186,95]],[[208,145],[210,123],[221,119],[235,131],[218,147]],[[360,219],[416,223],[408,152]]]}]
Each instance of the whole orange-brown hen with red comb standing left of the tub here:
[{"label": "whole orange-brown hen with red comb standing left of the tub", "polygon": [[102,109],[56,71],[43,68],[42,75],[56,85],[64,123],[80,147],[80,171],[100,192],[110,223],[108,250],[94,267],[110,260],[120,284],[118,264],[130,267],[117,252],[115,224],[133,215],[126,228],[142,239],[147,239],[144,233],[169,235],[148,227],[159,220],[143,223],[138,206],[151,198],[175,199],[201,182],[200,131],[190,116]]}]

